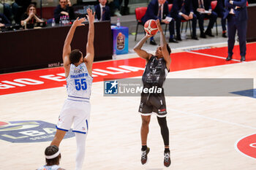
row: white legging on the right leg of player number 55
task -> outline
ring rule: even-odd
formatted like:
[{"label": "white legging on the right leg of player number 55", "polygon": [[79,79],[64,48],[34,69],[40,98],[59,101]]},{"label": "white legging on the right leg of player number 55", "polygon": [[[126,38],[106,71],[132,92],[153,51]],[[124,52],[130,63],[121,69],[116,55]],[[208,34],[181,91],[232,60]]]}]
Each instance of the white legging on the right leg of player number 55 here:
[{"label": "white legging on the right leg of player number 55", "polygon": [[87,134],[75,133],[77,152],[75,156],[75,170],[82,169],[84,157],[86,155],[86,136]]}]

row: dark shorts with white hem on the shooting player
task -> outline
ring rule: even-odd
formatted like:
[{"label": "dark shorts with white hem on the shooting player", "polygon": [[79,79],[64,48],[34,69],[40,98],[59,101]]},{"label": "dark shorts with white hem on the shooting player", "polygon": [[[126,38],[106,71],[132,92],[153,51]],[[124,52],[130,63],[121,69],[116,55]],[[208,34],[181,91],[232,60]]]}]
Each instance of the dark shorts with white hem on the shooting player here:
[{"label": "dark shorts with white hem on the shooting player", "polygon": [[165,94],[163,92],[159,94],[141,93],[140,96],[140,115],[148,116],[154,112],[157,114],[157,117],[166,117]]}]

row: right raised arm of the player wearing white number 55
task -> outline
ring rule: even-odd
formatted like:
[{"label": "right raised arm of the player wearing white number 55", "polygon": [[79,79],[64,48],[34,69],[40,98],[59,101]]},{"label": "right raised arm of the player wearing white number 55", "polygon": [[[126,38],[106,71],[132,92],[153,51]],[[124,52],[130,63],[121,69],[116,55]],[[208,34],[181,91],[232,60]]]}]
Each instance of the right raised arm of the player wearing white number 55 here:
[{"label": "right raised arm of the player wearing white number 55", "polygon": [[87,19],[89,21],[89,32],[88,32],[88,40],[86,45],[86,57],[84,61],[86,62],[87,69],[89,74],[91,74],[92,63],[94,62],[94,15],[95,12],[92,13],[91,9],[87,9]]}]

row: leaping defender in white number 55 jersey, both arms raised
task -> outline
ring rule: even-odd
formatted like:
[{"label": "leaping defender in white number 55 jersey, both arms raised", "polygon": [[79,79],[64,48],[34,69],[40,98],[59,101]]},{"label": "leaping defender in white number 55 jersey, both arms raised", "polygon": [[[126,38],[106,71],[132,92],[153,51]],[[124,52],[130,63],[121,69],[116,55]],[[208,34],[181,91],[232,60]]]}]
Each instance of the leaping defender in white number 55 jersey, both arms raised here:
[{"label": "leaping defender in white number 55 jersey, both arms raised", "polygon": [[92,84],[92,63],[94,61],[94,14],[91,9],[87,9],[87,18],[89,20],[88,42],[86,45],[86,56],[80,50],[72,50],[72,42],[75,28],[84,26],[86,18],[78,18],[72,24],[69,33],[64,42],[63,61],[67,80],[68,97],[64,102],[59,115],[59,121],[56,125],[57,131],[53,142],[50,145],[59,147],[64,135],[74,123],[73,132],[77,143],[77,152],[75,159],[75,170],[82,169],[86,149],[86,135],[89,128],[89,117],[91,105],[89,98],[91,96]]}]

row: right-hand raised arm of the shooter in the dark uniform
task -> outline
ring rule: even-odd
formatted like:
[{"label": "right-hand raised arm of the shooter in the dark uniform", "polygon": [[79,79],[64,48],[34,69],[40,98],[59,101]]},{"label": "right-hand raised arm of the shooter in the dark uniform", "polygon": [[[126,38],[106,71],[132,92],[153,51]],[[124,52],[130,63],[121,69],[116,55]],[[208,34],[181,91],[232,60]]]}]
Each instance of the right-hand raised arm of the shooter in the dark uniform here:
[{"label": "right-hand raised arm of the shooter in the dark uniform", "polygon": [[164,35],[164,32],[162,31],[162,26],[160,24],[160,21],[156,20],[156,23],[157,23],[158,31],[160,32],[160,46],[162,50],[162,55],[164,56],[167,69],[169,70],[171,59],[170,59],[170,54],[167,50],[167,42],[165,41],[165,35]]}]

